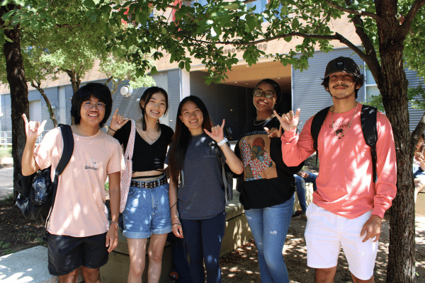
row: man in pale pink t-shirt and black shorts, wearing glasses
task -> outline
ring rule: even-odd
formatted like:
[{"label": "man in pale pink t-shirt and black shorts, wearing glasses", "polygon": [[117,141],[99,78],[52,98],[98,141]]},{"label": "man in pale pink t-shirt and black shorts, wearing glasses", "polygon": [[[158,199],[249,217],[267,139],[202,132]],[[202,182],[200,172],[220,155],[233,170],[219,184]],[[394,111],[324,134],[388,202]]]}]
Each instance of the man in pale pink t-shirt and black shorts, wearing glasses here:
[{"label": "man in pale pink t-shirt and black shorts, wearing glasses", "polygon": [[[118,245],[120,172],[125,169],[118,141],[100,130],[111,114],[112,96],[108,86],[88,83],[72,96],[72,157],[59,176],[55,206],[47,223],[48,270],[60,282],[77,282],[82,265],[84,282],[101,282],[99,268]],[[31,175],[52,166],[55,172],[63,151],[59,127],[35,141],[46,121],[28,122],[22,174]],[[112,221],[108,221],[105,182],[109,178]]]}]

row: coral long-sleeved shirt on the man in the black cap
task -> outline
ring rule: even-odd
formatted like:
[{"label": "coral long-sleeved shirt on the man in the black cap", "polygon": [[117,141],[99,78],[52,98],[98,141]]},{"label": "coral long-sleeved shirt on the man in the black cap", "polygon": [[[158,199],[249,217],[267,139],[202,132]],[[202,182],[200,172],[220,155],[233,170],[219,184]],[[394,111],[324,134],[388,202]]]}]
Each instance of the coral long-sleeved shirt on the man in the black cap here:
[{"label": "coral long-sleeved shirt on the man in the black cap", "polygon": [[[370,147],[365,144],[361,130],[361,104],[353,117],[355,109],[334,113],[334,123],[331,112],[328,112],[324,120],[317,142],[320,169],[313,202],[348,219],[354,219],[370,210],[373,210],[372,214],[383,218],[397,191],[397,163],[392,128],[387,117],[378,112],[378,180],[373,183]],[[351,117],[353,122],[348,127]],[[307,120],[299,136],[295,131],[282,135],[283,161],[288,166],[295,166],[314,153],[311,124],[312,117]],[[346,131],[344,137],[336,137],[333,126],[340,134]]]}]

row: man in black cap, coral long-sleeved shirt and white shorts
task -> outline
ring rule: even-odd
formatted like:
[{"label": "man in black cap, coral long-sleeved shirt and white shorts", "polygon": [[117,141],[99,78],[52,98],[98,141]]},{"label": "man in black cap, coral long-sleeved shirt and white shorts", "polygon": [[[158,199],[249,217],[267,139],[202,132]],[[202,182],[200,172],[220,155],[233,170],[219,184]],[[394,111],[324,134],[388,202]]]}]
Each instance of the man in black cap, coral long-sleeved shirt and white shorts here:
[{"label": "man in black cap, coral long-sleeved shirt and white shorts", "polygon": [[[374,282],[381,221],[396,193],[394,138],[381,112],[377,115],[377,180],[373,182],[370,147],[361,129],[362,105],[356,101],[363,79],[353,59],[338,57],[327,64],[322,82],[334,104],[317,139],[317,190],[306,213],[307,265],[315,269],[315,282],[334,282],[341,246],[353,282]],[[313,154],[312,117],[298,135],[299,108],[295,114],[275,115],[285,130],[283,161],[294,166]]]}]

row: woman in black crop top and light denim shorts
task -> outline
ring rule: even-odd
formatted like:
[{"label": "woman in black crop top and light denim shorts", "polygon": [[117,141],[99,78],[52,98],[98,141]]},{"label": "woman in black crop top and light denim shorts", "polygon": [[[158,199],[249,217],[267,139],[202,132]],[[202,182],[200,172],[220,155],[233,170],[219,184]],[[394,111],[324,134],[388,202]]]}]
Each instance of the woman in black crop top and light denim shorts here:
[{"label": "woman in black crop top and light denim shorts", "polygon": [[[132,180],[123,210],[123,235],[128,238],[130,255],[128,282],[142,280],[149,237],[148,282],[159,281],[166,236],[171,232],[169,184],[164,175],[164,159],[174,132],[159,123],[168,107],[168,96],[163,88],[147,88],[140,98],[142,119],[135,123]],[[131,132],[129,121],[119,115],[117,109],[108,128],[108,134],[118,139],[124,149],[127,149]],[[121,192],[125,194],[123,188]]]}]

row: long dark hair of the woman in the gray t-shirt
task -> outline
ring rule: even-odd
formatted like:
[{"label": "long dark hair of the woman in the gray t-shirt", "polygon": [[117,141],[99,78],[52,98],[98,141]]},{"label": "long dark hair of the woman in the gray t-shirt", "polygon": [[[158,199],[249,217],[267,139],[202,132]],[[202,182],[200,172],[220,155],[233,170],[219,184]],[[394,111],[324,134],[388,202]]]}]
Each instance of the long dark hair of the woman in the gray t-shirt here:
[{"label": "long dark hair of the woman in the gray t-shirt", "polygon": [[176,132],[174,132],[173,139],[171,141],[170,146],[170,155],[169,155],[169,167],[170,167],[170,175],[176,184],[179,183],[179,174],[181,169],[183,169],[184,157],[186,156],[186,151],[188,149],[189,142],[192,139],[191,132],[188,127],[184,125],[183,121],[180,119],[181,110],[183,105],[191,101],[196,104],[196,106],[200,109],[203,114],[203,129],[208,129],[211,131],[212,122],[210,113],[208,113],[208,109],[205,106],[200,98],[197,96],[187,96],[183,98],[179,104],[179,109],[177,110],[176,117]]}]

